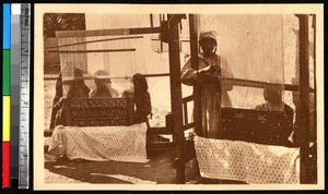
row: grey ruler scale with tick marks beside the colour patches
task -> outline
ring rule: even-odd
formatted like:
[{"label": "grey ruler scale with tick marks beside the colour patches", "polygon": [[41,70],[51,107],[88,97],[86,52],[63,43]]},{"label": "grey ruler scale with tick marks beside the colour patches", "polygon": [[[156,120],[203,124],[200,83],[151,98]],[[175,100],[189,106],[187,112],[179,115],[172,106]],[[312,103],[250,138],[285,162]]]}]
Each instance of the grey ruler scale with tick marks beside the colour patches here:
[{"label": "grey ruler scale with tick marks beside the colour patches", "polygon": [[30,49],[31,4],[21,4],[20,58],[20,160],[19,187],[28,189],[30,181]]}]

